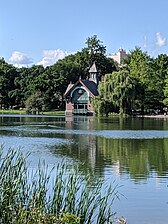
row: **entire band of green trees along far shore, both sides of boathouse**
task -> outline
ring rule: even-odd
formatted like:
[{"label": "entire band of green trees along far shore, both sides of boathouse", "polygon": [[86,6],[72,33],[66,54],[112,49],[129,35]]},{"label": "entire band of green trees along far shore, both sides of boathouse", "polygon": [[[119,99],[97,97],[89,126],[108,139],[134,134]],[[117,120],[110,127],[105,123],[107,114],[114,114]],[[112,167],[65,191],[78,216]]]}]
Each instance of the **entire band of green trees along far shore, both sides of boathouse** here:
[{"label": "entire band of green trees along far shore, both sides of boathouse", "polygon": [[117,66],[106,57],[106,47],[96,35],[86,47],[54,65],[16,68],[0,59],[0,107],[26,107],[36,113],[64,109],[70,82],[85,79],[93,62],[99,71],[99,96],[93,99],[97,114],[163,113],[168,105],[168,56],[152,58],[136,47]]}]

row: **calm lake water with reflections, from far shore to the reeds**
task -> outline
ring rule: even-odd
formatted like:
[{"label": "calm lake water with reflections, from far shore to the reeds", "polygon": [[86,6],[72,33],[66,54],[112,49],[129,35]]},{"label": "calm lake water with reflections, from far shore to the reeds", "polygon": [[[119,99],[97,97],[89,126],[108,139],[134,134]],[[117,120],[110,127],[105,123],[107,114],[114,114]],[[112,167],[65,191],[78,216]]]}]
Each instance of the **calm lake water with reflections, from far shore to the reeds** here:
[{"label": "calm lake water with reflections, from far shore to the reeds", "polygon": [[62,159],[120,186],[117,216],[129,224],[168,223],[168,120],[0,116],[0,144],[39,159]]}]

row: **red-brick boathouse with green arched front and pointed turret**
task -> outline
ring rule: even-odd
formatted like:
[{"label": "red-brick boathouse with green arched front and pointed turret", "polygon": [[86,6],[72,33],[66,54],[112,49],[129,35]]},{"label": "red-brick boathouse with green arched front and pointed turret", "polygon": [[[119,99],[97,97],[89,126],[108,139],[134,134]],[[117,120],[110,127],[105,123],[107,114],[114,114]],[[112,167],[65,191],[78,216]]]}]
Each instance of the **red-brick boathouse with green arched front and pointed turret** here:
[{"label": "red-brick boathouse with green arched front and pointed turret", "polygon": [[98,96],[98,72],[93,63],[88,79],[70,83],[64,94],[66,101],[65,115],[93,115],[92,98]]}]

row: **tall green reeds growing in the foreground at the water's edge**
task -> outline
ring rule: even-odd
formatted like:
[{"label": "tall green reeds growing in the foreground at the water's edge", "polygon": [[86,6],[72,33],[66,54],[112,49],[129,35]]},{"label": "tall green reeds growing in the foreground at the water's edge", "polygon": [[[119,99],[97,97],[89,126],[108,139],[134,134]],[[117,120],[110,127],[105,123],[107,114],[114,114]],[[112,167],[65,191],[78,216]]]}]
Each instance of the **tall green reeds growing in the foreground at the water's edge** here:
[{"label": "tall green reeds growing in the foreground at the water's edge", "polygon": [[20,150],[0,150],[0,223],[2,224],[103,224],[112,223],[117,186],[90,177],[78,167],[60,163],[52,169],[39,163],[30,172]]}]

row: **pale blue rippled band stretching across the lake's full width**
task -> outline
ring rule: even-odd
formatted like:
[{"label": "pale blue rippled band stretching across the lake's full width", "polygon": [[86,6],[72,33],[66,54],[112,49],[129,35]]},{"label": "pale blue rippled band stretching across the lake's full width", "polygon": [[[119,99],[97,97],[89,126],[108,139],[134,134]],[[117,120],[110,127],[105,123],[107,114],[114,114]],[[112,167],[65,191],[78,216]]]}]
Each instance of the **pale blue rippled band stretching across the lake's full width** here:
[{"label": "pale blue rippled band stretching across the lake's full width", "polygon": [[112,139],[158,139],[168,138],[168,130],[73,130],[73,129],[61,129],[61,128],[46,128],[41,126],[5,126],[1,128],[1,131],[12,131],[19,135],[19,132],[28,133],[41,133],[41,134],[67,134],[67,135],[94,135],[104,138]]}]

